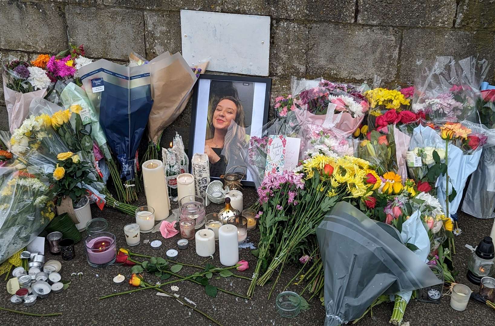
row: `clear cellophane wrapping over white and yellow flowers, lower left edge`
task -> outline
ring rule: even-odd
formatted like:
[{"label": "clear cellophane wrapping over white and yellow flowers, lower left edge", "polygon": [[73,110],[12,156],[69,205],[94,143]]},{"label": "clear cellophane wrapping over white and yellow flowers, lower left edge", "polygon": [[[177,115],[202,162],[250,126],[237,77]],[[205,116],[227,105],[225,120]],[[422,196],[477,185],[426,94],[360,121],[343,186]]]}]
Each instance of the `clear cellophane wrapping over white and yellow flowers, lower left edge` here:
[{"label": "clear cellophane wrapping over white and yellow flowers, lower left edge", "polygon": [[48,180],[11,161],[0,166],[0,263],[33,241],[54,217]]}]

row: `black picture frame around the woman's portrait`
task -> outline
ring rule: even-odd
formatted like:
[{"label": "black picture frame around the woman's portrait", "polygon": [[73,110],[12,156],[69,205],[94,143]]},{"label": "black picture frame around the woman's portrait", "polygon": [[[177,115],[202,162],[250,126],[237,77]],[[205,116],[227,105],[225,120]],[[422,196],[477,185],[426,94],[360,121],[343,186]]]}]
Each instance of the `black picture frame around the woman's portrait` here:
[{"label": "black picture frame around the woman's portrait", "polygon": [[[189,146],[188,146],[188,156],[189,156],[189,172],[191,173],[192,163],[191,160],[194,155],[194,143],[195,143],[195,130],[196,130],[196,120],[198,113],[198,88],[199,81],[208,79],[211,81],[225,81],[225,82],[262,82],[266,84],[265,88],[265,99],[264,99],[264,112],[263,112],[263,123],[265,125],[268,122],[268,111],[270,109],[270,93],[272,87],[272,79],[265,77],[244,77],[244,76],[228,76],[228,75],[199,75],[196,84],[193,87],[193,106],[191,109],[191,129],[189,130]],[[260,126],[262,127],[262,126]],[[210,180],[220,180],[218,177],[210,177]],[[221,180],[220,180],[221,181]],[[241,183],[245,186],[254,186],[253,181],[241,180]]]}]

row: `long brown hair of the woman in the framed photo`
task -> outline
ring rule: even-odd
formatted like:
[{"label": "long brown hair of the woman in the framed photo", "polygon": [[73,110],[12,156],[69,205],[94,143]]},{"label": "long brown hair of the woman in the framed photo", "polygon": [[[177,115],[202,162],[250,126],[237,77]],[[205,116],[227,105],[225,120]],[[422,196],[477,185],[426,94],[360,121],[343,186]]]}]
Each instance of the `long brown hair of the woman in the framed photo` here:
[{"label": "long brown hair of the woman in the framed photo", "polygon": [[236,118],[234,119],[235,123],[230,123],[229,128],[227,129],[227,133],[225,134],[224,142],[223,142],[223,154],[225,156],[225,161],[228,163],[232,154],[240,151],[242,147],[242,142],[245,141],[246,138],[246,124],[244,122],[244,109],[241,102],[232,96],[224,96],[213,102],[211,105],[209,114],[208,114],[208,124],[210,126],[211,134],[215,134],[215,127],[213,126],[213,114],[215,113],[216,107],[218,103],[223,100],[229,100],[236,104]]}]

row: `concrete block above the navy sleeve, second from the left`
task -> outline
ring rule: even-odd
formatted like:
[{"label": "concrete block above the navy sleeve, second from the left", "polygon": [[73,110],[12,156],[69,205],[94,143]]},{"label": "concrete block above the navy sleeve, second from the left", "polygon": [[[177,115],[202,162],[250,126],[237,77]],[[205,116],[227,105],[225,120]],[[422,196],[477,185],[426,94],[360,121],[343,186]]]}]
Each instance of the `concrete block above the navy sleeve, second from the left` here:
[{"label": "concrete block above the navy sleeve, second from the left", "polygon": [[126,60],[128,47],[145,55],[142,11],[68,5],[65,16],[69,41],[84,44],[89,57]]}]

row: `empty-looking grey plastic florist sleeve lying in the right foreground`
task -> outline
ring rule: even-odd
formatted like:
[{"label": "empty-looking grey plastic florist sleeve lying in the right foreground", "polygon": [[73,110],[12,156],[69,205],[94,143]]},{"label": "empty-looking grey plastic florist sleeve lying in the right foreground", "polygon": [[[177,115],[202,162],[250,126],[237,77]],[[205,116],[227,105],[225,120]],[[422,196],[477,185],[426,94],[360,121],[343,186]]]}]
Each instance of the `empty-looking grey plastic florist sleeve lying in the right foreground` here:
[{"label": "empty-looking grey plastic florist sleeve lying in the right foreground", "polygon": [[337,203],[316,229],[325,274],[325,326],[347,324],[382,294],[441,281],[403,243],[398,231],[346,202]]}]

